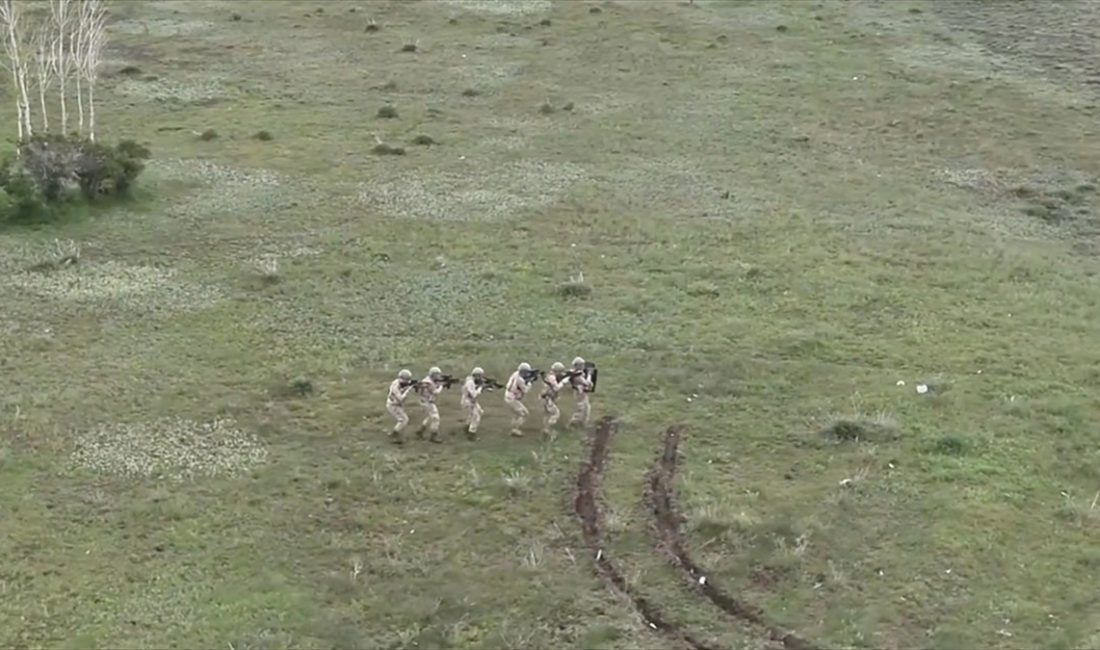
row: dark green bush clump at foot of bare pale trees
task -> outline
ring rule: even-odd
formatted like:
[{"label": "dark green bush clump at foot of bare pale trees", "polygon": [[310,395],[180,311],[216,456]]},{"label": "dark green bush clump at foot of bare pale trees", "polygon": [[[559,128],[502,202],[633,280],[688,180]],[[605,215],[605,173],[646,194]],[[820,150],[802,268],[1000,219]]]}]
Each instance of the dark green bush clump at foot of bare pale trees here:
[{"label": "dark green bush clump at foot of bare pale trees", "polygon": [[0,161],[0,221],[53,217],[68,203],[128,196],[150,151],[132,140],[114,146],[38,135]]}]

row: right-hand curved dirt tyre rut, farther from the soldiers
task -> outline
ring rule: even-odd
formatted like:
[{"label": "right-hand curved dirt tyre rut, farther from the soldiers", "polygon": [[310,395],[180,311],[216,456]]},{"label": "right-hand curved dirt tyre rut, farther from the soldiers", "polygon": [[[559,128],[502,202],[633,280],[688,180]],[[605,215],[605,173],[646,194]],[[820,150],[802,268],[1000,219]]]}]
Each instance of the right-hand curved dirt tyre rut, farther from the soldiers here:
[{"label": "right-hand curved dirt tyre rut, farther from the soldiers", "polygon": [[707,572],[688,554],[683,536],[680,531],[682,517],[676,510],[673,500],[674,491],[672,481],[676,472],[676,460],[680,449],[680,437],[684,428],[681,426],[670,427],[664,432],[664,448],[661,455],[653,463],[648,477],[648,492],[646,500],[653,510],[654,528],[662,550],[680,568],[684,579],[689,581],[693,588],[703,594],[716,607],[734,617],[738,621],[761,628],[770,639],[783,643],[785,648],[792,650],[815,650],[816,646],[806,641],[794,632],[788,632],[767,620],[763,612],[736,599],[726,593],[722,587],[706,577]]}]

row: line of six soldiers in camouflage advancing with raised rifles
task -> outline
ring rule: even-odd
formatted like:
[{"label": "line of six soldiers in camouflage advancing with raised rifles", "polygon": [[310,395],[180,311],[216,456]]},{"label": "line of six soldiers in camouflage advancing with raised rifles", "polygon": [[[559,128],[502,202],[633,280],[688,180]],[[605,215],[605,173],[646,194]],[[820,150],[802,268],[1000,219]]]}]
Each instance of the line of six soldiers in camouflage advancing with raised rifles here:
[{"label": "line of six soldiers in camouflage advancing with raised rifles", "polygon": [[[542,421],[543,436],[552,436],[553,427],[558,423],[558,418],[561,416],[561,411],[557,405],[558,397],[566,388],[572,388],[576,397],[576,406],[573,417],[570,419],[570,426],[587,426],[591,414],[588,393],[592,393],[595,388],[595,373],[593,372],[595,366],[585,363],[580,356],[573,360],[571,370],[565,370],[564,364],[556,362],[550,366],[550,372],[540,373],[539,371],[531,370],[531,365],[524,362],[516,367],[516,371],[512,373],[512,376],[508,377],[507,383],[504,385],[486,377],[485,371],[481,367],[473,368],[462,383],[462,396],[460,398],[460,404],[466,415],[466,425],[464,428],[466,437],[471,440],[477,439],[477,426],[481,423],[483,412],[477,399],[481,397],[482,392],[496,389],[504,390],[504,403],[513,412],[512,434],[516,437],[522,436],[522,426],[529,415],[527,407],[524,405],[524,397],[527,396],[531,385],[539,378],[542,379],[543,384],[543,389],[539,394],[544,414]],[[420,406],[424,407],[426,414],[420,428],[416,432],[416,437],[424,439],[425,431],[428,431],[432,442],[442,442],[439,437],[439,407],[436,405],[436,399],[442,393],[443,388],[449,388],[457,383],[457,378],[444,375],[443,371],[435,366],[428,371],[428,376],[419,382],[413,378],[413,373],[408,370],[402,370],[397,373],[397,378],[389,384],[389,394],[386,396],[386,410],[397,420],[397,423],[394,425],[394,428],[389,432],[391,440],[397,444],[405,442],[402,432],[408,426],[409,417],[405,412],[404,405],[409,395],[416,392],[420,397]]]}]

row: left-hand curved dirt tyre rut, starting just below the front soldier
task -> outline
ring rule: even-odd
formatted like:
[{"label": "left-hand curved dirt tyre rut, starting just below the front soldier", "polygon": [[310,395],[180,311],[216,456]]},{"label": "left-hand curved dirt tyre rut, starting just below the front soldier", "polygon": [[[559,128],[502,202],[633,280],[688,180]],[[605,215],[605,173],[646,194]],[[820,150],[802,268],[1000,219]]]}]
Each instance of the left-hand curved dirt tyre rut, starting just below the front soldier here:
[{"label": "left-hand curved dirt tyre rut, starting just below the front soldier", "polygon": [[616,422],[612,418],[604,418],[600,421],[592,439],[588,460],[581,466],[581,472],[576,476],[576,498],[573,500],[573,510],[581,519],[584,542],[594,554],[596,574],[614,591],[629,598],[631,604],[634,604],[635,610],[638,612],[650,628],[694,650],[711,650],[712,646],[695,639],[675,624],[667,620],[657,606],[630,588],[623,576],[623,572],[612,562],[612,559],[603,548],[604,511],[600,507],[597,496],[601,489],[604,465],[607,462],[607,450],[612,436],[615,434],[617,428]]}]

